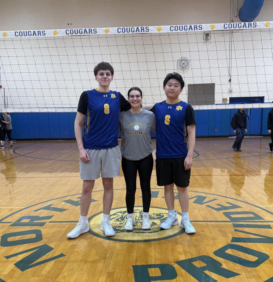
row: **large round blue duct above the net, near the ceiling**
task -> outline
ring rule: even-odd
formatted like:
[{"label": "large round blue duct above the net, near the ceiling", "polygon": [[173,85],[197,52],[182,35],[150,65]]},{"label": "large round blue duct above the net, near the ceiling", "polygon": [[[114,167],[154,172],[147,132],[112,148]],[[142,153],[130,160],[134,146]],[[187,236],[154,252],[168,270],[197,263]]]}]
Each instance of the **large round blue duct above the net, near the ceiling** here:
[{"label": "large round blue duct above the net, near the ceiling", "polygon": [[243,23],[254,21],[259,15],[264,0],[244,0],[244,4],[239,10],[239,19]]}]

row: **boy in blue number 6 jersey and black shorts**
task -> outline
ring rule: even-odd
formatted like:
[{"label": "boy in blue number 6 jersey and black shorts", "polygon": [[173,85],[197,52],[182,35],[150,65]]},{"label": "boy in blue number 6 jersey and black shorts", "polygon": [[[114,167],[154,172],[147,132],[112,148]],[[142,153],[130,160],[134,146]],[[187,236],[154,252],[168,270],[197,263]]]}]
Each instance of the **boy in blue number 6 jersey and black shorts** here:
[{"label": "boy in blue number 6 jersey and black shorts", "polygon": [[[163,82],[167,100],[156,103],[151,111],[157,123],[156,175],[157,185],[164,186],[168,217],[160,225],[169,229],[178,224],[174,210],[174,184],[182,210],[180,225],[186,233],[195,233],[188,216],[190,168],[195,144],[195,117],[191,105],[179,99],[185,83],[180,74],[169,73]],[[188,146],[187,146],[188,143]]]}]

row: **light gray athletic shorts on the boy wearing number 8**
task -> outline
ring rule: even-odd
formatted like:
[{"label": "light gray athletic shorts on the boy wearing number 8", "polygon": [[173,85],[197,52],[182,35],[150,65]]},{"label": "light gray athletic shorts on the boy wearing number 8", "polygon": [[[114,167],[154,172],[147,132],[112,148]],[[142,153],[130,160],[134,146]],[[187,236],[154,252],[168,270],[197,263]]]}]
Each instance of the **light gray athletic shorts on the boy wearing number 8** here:
[{"label": "light gray athletic shorts on the boy wearing number 8", "polygon": [[101,177],[117,177],[120,175],[120,147],[110,149],[86,149],[90,160],[80,160],[80,176],[82,180],[95,180]]}]

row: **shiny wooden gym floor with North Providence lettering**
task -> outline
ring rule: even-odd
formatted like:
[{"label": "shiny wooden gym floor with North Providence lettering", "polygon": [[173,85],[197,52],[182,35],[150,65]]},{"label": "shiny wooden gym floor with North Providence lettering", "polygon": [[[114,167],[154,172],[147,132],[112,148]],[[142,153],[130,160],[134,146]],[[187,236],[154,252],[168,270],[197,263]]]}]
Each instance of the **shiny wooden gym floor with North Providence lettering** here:
[{"label": "shiny wooden gym floor with North Providence lettering", "polygon": [[[67,239],[79,219],[82,181],[75,141],[17,142],[0,151],[0,281],[273,281],[273,154],[269,137],[196,140],[190,219],[160,230],[164,189],[152,173],[150,230],[141,229],[137,183],[133,231],[125,232],[125,181],[114,179],[107,238],[100,230],[103,186],[95,183],[90,231]],[[155,140],[153,140],[155,149]],[[179,219],[180,207],[175,197]],[[271,278],[271,279],[270,279]]]}]

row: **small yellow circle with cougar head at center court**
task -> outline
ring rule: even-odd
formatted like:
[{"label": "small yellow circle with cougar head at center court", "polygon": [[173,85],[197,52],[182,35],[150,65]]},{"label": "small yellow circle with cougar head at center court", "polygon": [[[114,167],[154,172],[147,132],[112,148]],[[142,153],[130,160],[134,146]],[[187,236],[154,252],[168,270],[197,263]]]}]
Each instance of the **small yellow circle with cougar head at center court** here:
[{"label": "small yellow circle with cougar head at center court", "polygon": [[[142,229],[142,207],[136,207],[134,209],[134,221],[135,225],[133,230],[124,230],[124,226],[127,220],[126,207],[113,208],[111,210],[110,222],[116,235],[113,237],[107,237],[100,229],[100,222],[103,212],[96,213],[88,218],[89,221],[89,233],[100,238],[104,238],[111,241],[118,242],[150,242],[158,241],[162,239],[168,239],[185,232],[181,229],[180,224],[172,226],[168,230],[161,229],[159,226],[168,217],[168,210],[165,208],[150,207],[149,219],[151,228],[148,230]],[[180,213],[178,213],[180,214]],[[180,214],[181,215],[181,214]]]}]

